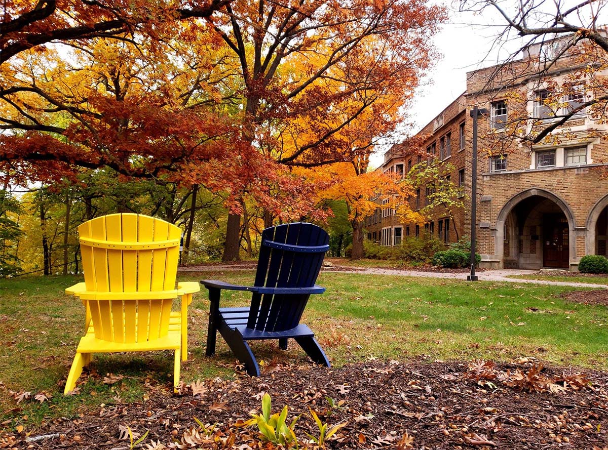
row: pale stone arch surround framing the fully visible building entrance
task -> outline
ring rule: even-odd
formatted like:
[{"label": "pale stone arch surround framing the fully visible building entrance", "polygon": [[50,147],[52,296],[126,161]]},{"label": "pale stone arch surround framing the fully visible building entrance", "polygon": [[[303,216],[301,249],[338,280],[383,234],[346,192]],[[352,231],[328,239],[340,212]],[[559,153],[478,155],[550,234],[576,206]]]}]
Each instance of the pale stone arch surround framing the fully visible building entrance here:
[{"label": "pale stone arch surround framing the fully visible building entrance", "polygon": [[511,210],[513,210],[513,208],[517,205],[517,203],[527,199],[528,197],[534,196],[544,197],[545,199],[549,199],[554,202],[556,205],[559,206],[559,208],[564,213],[564,216],[568,220],[568,247],[570,250],[570,264],[572,264],[572,259],[576,256],[576,220],[574,213],[572,212],[572,208],[570,208],[570,205],[568,205],[568,203],[564,199],[557,196],[556,194],[551,193],[550,191],[547,191],[547,189],[542,188],[530,188],[526,189],[525,191],[521,191],[519,194],[516,194],[511,197],[511,199],[509,199],[508,202],[506,202],[505,205],[500,208],[500,212],[496,216],[496,228],[494,229],[494,254],[500,258],[500,261],[504,261],[503,240],[505,220],[508,217],[509,213],[511,213]]}]

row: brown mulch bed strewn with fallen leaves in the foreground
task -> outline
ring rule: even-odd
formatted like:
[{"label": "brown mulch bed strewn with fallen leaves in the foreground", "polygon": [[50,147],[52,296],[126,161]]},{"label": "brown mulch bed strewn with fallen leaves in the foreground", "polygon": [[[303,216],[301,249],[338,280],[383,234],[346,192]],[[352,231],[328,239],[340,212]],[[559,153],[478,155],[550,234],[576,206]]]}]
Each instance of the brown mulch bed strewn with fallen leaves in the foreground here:
[{"label": "brown mulch bed strewn with fallen leaves in the foreground", "polygon": [[197,380],[177,395],[146,387],[143,403],[117,396],[27,437],[6,434],[0,448],[608,450],[608,374],[533,358],[371,360],[338,369],[268,363],[260,378]]}]

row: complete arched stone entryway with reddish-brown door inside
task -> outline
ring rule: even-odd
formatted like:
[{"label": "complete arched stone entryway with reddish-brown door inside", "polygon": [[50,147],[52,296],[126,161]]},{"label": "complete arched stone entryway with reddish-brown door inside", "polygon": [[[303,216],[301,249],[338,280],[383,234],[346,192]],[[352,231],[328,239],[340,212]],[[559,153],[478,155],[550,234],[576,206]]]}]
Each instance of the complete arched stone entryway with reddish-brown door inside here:
[{"label": "complete arched stone entryway with reddish-brown door inside", "polygon": [[495,255],[503,267],[570,268],[575,226],[565,200],[546,189],[527,189],[511,197],[496,218]]}]

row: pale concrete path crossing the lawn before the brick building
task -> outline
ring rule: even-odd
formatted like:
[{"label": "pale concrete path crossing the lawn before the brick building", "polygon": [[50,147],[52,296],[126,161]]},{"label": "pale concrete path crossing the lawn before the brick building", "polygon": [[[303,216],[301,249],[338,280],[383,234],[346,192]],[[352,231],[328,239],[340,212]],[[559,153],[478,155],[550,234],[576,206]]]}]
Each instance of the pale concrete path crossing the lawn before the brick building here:
[{"label": "pale concrete path crossing the lawn before the brick building", "polygon": [[[199,272],[208,270],[225,270],[225,271],[239,271],[239,270],[255,270],[255,262],[244,262],[243,264],[222,264],[222,265],[197,265],[190,267],[179,267],[178,271],[181,272]],[[444,272],[423,272],[416,270],[398,270],[389,268],[359,268],[359,267],[342,267],[334,265],[331,267],[323,267],[322,271],[327,273],[356,273],[356,274],[370,274],[370,275],[396,275],[396,276],[418,276],[427,278],[447,278],[447,279],[460,279],[466,280],[467,273],[444,273]],[[529,284],[548,284],[556,286],[571,286],[571,287],[595,287],[608,289],[607,284],[591,284],[591,283],[579,283],[579,282],[565,282],[565,281],[545,281],[545,280],[530,280],[530,279],[517,279],[517,278],[506,278],[510,275],[528,275],[537,273],[536,270],[521,270],[521,269],[496,269],[496,270],[484,270],[478,272],[477,276],[480,281],[505,281],[510,283],[529,283]]]}]

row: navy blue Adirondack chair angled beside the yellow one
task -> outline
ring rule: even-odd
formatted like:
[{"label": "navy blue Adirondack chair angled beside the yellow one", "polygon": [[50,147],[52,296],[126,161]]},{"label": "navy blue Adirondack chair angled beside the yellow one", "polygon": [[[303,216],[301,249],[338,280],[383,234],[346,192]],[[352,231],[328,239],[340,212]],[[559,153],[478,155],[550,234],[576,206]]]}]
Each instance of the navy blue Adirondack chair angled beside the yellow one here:
[{"label": "navy blue Adirondack chair angled beside the yellow one", "polygon": [[[253,286],[240,286],[215,280],[202,280],[209,289],[211,310],[207,333],[207,356],[215,353],[216,332],[226,340],[247,373],[260,376],[260,367],[247,341],[278,339],[279,347],[287,349],[293,338],[317,364],[330,367],[330,361],[314,339],[314,333],[300,318],[311,294],[320,294],[317,276],[323,256],[330,247],[330,237],[312,223],[286,223],[266,228]],[[220,308],[223,289],[251,291],[249,307]]]}]

